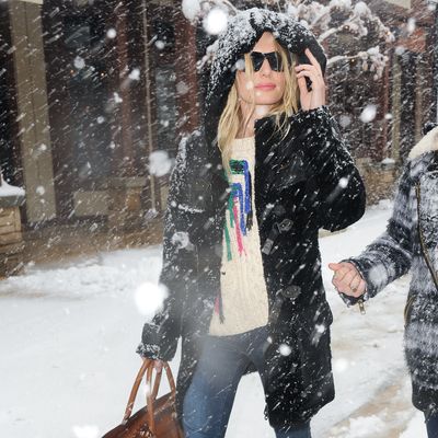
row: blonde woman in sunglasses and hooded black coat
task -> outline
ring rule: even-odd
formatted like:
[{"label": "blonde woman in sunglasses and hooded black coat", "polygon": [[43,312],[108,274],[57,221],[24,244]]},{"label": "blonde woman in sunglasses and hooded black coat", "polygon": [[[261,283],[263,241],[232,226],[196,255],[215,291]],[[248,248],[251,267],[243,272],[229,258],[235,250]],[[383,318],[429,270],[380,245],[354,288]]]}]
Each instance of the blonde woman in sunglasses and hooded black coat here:
[{"label": "blonde woman in sunglasses and hooded black coat", "polygon": [[186,437],[224,435],[245,372],[262,377],[277,437],[310,437],[334,397],[318,230],[358,220],[365,193],[324,106],[324,66],[314,36],[284,14],[239,12],[219,37],[204,126],[171,176],[169,297],[139,347],[159,366],[182,337]]}]

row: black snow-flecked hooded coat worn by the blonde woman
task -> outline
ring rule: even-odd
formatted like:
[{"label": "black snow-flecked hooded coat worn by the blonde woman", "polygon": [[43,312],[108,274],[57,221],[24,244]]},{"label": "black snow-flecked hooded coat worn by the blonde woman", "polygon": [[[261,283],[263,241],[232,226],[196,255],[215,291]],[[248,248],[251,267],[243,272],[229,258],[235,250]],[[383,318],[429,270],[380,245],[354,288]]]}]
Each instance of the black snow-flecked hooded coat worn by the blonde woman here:
[{"label": "black snow-flecked hooded coat worn by the blonde woman", "polygon": [[[278,15],[266,14],[266,22]],[[301,41],[301,51],[316,44],[314,39],[306,43],[308,31],[301,32],[293,20],[289,26]],[[257,27],[253,37],[264,28]],[[249,48],[240,50],[231,59]],[[207,112],[208,107],[211,101]],[[220,112],[215,112],[210,114],[216,114],[217,122]],[[199,341],[208,333],[220,291],[229,191],[214,141],[214,117],[180,145],[171,176],[160,277],[169,297],[163,311],[145,325],[138,349],[143,356],[170,360],[182,337],[180,413],[200,354]],[[328,110],[299,112],[288,118],[288,126],[287,136],[280,138],[272,117],[255,124],[255,215],[273,338],[265,353],[266,404],[274,427],[307,422],[334,397],[332,313],[321,278],[318,232],[320,228],[343,229],[358,220],[365,209],[362,181]],[[291,347],[289,356],[279,354],[280,344]]]}]

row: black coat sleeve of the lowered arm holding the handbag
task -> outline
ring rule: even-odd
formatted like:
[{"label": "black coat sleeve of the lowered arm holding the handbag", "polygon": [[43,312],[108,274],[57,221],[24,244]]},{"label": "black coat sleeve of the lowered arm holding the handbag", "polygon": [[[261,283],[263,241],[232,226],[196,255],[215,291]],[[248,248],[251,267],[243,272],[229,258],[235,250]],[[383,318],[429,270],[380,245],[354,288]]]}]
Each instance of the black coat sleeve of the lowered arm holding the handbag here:
[{"label": "black coat sleeve of the lowered arm holding the handbag", "polygon": [[[195,247],[189,241],[191,211],[187,200],[187,162],[189,145],[197,131],[183,139],[178,147],[176,163],[170,177],[168,204],[164,214],[163,265],[159,284],[168,296],[150,323],[142,330],[137,353],[151,359],[171,360],[181,336],[181,319],[186,295],[186,275]],[[193,265],[192,265],[193,266]]]}]

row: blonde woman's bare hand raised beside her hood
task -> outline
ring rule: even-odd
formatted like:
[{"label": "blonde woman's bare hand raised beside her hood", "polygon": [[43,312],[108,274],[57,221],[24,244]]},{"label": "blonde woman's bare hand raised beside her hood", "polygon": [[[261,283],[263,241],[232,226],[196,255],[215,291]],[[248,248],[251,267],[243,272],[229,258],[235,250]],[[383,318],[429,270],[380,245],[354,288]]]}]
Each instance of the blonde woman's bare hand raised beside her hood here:
[{"label": "blonde woman's bare hand raised beside her hood", "polygon": [[[311,64],[300,64],[295,68],[300,89],[301,107],[304,111],[315,110],[325,105],[325,82],[322,74],[320,62],[313,54],[307,48],[304,54]],[[312,81],[312,90],[309,91],[306,78]]]}]

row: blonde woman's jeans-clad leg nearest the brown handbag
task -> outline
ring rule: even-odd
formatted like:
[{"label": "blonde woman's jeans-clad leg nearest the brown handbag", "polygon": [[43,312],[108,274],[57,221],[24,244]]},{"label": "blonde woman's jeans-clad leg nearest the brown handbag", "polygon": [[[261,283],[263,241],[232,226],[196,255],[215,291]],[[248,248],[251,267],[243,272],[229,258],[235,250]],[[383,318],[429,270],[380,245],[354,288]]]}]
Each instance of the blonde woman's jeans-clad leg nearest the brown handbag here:
[{"label": "blonde woman's jeans-clad leg nearest the brown handbag", "polygon": [[221,438],[249,362],[233,336],[208,336],[183,404],[186,438]]}]

